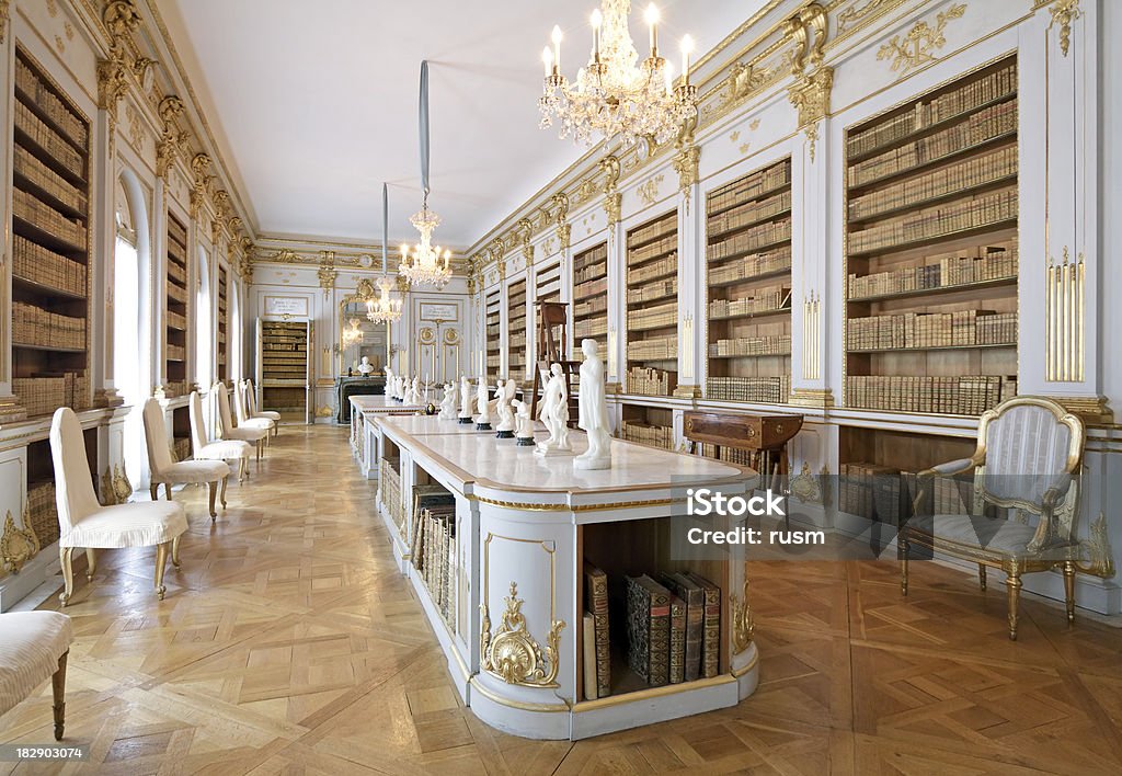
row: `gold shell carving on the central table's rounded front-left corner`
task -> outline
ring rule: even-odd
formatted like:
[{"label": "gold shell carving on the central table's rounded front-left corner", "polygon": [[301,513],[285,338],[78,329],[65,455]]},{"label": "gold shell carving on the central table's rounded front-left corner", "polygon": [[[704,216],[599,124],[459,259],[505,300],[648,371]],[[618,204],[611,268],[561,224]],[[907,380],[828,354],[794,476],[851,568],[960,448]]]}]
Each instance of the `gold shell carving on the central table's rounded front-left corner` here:
[{"label": "gold shell carving on the central table's rounded front-left corner", "polygon": [[516,582],[511,582],[511,594],[504,601],[506,611],[503,612],[498,630],[494,633],[487,603],[479,604],[482,620],[479,633],[479,659],[482,669],[507,684],[522,687],[560,687],[557,677],[564,621],[554,620],[551,623],[543,654],[541,645],[526,629],[526,615],[522,613],[522,605],[525,602],[518,597]]}]

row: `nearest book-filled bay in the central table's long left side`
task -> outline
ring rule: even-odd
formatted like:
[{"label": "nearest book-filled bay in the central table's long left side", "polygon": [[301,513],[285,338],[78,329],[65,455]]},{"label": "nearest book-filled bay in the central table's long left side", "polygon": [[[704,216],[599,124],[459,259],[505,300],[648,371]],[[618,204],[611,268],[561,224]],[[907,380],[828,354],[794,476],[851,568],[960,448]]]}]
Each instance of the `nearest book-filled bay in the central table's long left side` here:
[{"label": "nearest book-filled bay in the central table's long left side", "polygon": [[411,562],[433,606],[454,633],[457,587],[456,499],[440,485],[413,486]]}]

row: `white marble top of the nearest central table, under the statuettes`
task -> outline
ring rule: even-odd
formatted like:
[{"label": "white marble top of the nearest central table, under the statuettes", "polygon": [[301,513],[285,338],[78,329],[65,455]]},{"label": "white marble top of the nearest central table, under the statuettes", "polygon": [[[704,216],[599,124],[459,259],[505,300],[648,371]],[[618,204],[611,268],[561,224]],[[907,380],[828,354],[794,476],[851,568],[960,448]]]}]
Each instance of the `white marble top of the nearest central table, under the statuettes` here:
[{"label": "white marble top of the nearest central table, under the statuettes", "polygon": [[[700,456],[611,440],[613,467],[574,469],[572,459],[588,449],[583,431],[572,430],[573,455],[540,456],[533,447],[518,447],[514,439],[497,439],[494,431],[476,431],[436,417],[387,416],[375,419],[385,432],[414,454],[445,464],[465,481],[489,489],[518,493],[579,493],[679,487],[708,482],[743,481],[751,469]],[[541,423],[539,440],[548,438]]]}]

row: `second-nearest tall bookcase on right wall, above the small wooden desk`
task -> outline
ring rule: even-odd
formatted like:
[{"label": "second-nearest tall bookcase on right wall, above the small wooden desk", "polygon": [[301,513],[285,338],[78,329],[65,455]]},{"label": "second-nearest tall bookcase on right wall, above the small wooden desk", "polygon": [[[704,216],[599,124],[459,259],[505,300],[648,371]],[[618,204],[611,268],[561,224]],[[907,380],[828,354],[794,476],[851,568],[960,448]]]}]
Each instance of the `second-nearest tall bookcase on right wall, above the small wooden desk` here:
[{"label": "second-nearest tall bookcase on right wall, above the small wooden desk", "polygon": [[706,396],[787,403],[791,159],[714,190],[706,206]]}]

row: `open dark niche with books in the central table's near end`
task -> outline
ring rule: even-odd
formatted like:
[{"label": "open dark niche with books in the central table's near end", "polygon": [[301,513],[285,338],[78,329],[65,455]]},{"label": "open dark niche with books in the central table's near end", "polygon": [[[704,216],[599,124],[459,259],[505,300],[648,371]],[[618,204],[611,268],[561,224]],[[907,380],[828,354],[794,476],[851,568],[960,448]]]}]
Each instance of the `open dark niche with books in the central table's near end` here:
[{"label": "open dark niche with books in the central table's near end", "polygon": [[[671,518],[582,529],[583,700],[688,684],[728,670],[728,564],[670,556]],[[626,548],[626,549],[624,549]]]}]

